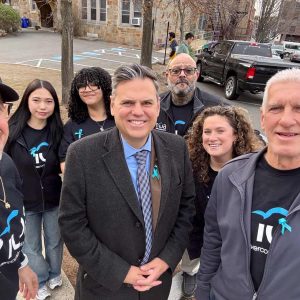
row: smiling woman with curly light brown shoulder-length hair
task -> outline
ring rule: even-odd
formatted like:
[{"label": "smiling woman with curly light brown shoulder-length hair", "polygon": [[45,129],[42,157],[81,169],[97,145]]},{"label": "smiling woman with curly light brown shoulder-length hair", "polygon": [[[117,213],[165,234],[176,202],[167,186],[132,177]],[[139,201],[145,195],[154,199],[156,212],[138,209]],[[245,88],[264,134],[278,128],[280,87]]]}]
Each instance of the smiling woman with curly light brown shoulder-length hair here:
[{"label": "smiling woman with curly light brown shoulder-length hair", "polygon": [[[234,106],[206,108],[194,121],[187,145],[196,188],[196,216],[190,244],[184,253],[183,291],[191,297],[196,290],[196,274],[203,244],[204,212],[218,171],[232,158],[263,147],[247,112]],[[222,191],[221,191],[222,192]]]}]

